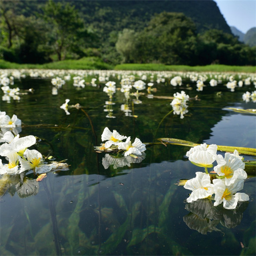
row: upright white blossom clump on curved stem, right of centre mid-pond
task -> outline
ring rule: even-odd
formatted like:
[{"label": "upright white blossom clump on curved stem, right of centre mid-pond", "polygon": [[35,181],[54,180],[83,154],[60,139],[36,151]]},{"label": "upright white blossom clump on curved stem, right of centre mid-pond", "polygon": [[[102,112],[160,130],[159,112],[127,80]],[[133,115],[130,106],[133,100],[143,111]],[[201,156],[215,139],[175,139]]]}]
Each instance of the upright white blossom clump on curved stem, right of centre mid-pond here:
[{"label": "upright white blossom clump on curved stem, right of centre mid-pond", "polygon": [[180,115],[180,118],[184,118],[184,114],[188,112],[186,102],[189,100],[189,96],[184,91],[181,93],[174,93],[174,99],[170,103],[172,105],[173,113]]}]

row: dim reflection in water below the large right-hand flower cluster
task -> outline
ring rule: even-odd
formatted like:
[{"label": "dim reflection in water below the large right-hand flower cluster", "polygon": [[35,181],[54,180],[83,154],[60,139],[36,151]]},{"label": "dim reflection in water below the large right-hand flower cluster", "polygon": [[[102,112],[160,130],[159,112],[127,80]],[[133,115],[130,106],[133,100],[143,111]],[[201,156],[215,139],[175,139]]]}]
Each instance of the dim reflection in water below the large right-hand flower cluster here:
[{"label": "dim reflection in water below the large right-hand flower cluster", "polygon": [[216,228],[219,223],[227,228],[238,226],[247,205],[248,202],[242,202],[236,209],[230,210],[223,208],[222,205],[214,207],[212,201],[207,198],[198,199],[186,204],[185,208],[189,214],[183,217],[183,221],[190,229],[206,235],[207,232],[221,231]]}]

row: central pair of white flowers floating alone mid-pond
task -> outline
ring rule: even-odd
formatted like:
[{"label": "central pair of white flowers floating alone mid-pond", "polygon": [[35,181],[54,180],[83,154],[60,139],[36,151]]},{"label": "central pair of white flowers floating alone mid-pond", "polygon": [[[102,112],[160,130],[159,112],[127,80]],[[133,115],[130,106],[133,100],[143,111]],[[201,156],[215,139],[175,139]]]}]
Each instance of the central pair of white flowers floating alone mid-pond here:
[{"label": "central pair of white flowers floating alone mid-pond", "polygon": [[[105,127],[103,133],[102,133],[102,142],[103,143],[99,148],[101,150],[120,150],[124,152],[124,156],[140,156],[142,155],[142,152],[146,150],[145,144],[143,144],[140,139],[135,138],[134,143],[131,143],[131,137],[120,135],[116,130],[113,130],[111,132],[108,127]],[[125,140],[123,142],[122,140]]]}]

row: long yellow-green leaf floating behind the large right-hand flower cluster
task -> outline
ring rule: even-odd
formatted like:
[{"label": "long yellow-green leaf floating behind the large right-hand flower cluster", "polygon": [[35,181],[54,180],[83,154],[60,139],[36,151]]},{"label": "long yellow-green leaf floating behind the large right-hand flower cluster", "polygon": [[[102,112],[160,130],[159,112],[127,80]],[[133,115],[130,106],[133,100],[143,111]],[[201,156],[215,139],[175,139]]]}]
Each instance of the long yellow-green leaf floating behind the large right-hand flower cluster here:
[{"label": "long yellow-green leaf floating behind the large right-hand flower cluster", "polygon": [[[163,143],[170,143],[172,145],[182,145],[182,146],[188,146],[188,147],[195,147],[197,145],[200,145],[197,143],[193,143],[191,141],[174,139],[174,138],[159,138],[157,140],[160,140]],[[256,148],[217,145],[217,150],[226,151],[226,152],[234,152],[235,150],[237,150],[240,154],[256,156]]]}]

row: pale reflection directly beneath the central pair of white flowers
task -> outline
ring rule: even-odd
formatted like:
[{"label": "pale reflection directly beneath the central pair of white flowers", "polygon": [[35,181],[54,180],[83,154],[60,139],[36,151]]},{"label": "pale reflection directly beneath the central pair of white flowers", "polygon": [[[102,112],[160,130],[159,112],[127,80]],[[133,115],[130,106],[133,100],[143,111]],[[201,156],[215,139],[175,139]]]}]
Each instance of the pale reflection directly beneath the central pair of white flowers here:
[{"label": "pale reflection directly beneath the central pair of white flowers", "polygon": [[141,154],[137,158],[131,156],[122,156],[115,157],[110,154],[105,154],[105,157],[102,158],[102,165],[105,169],[108,169],[109,166],[113,165],[113,168],[119,168],[124,166],[131,166],[131,163],[140,163],[145,159],[145,153]]}]

